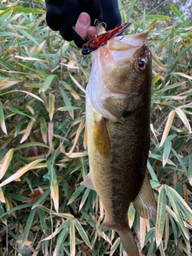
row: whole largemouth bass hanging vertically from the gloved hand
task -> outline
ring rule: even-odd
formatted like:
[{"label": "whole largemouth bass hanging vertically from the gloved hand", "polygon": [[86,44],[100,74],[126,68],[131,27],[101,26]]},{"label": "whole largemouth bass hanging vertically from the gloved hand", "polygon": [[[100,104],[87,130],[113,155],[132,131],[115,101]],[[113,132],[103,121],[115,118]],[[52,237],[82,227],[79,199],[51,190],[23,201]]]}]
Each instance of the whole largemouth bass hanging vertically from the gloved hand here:
[{"label": "whole largemouth bass hanging vertically from the gloved hand", "polygon": [[147,31],[114,38],[94,52],[86,87],[90,174],[105,209],[102,230],[116,230],[126,253],[138,256],[127,219],[130,203],[155,218],[156,202],[146,174],[150,149],[151,54]]}]

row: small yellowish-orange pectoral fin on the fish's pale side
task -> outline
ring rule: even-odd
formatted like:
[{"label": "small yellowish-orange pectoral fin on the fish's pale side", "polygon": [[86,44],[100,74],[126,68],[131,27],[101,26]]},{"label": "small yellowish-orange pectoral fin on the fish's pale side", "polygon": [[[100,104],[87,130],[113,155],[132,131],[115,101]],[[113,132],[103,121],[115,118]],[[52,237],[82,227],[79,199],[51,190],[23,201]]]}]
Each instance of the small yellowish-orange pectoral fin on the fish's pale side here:
[{"label": "small yellowish-orange pectoral fin on the fish's pale side", "polygon": [[106,128],[105,118],[99,122],[94,122],[94,146],[102,157],[106,158],[110,154],[110,136]]}]

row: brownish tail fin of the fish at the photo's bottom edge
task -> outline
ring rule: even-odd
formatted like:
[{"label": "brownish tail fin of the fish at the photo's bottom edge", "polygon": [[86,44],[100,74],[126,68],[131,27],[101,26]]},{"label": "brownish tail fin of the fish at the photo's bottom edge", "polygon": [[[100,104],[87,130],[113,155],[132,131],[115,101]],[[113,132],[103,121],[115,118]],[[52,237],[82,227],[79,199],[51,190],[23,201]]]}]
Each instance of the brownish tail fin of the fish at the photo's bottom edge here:
[{"label": "brownish tail fin of the fish at the photo's bottom edge", "polygon": [[139,256],[138,246],[134,241],[134,236],[131,234],[130,228],[123,231],[118,231],[118,235],[121,238],[122,246],[126,250],[126,253],[130,254],[131,256]]}]

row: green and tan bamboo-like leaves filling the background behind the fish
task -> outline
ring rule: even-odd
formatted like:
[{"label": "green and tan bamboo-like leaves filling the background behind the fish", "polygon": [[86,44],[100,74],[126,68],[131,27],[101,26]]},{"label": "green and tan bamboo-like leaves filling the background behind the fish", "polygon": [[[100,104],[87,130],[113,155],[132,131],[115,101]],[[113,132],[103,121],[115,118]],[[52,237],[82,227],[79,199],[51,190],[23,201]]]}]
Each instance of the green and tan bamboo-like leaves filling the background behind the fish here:
[{"label": "green and tan bamboo-like leaves filling the background behind the fish", "polygon": [[[156,3],[120,3],[127,33],[150,30],[153,54],[147,167],[158,215],[130,206],[129,221],[141,255],[191,255],[191,15]],[[92,57],[46,26],[42,0],[2,1],[0,31],[0,255],[126,255],[101,230],[97,194],[79,185]]]}]

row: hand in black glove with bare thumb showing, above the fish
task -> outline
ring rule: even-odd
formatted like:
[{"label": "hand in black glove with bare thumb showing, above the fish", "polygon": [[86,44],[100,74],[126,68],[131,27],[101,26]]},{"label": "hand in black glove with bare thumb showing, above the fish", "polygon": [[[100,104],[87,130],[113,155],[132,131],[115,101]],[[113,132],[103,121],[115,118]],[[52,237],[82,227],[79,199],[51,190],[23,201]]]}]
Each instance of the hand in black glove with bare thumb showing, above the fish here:
[{"label": "hand in black glove with bare thumb showing, above the fish", "polygon": [[106,22],[106,30],[121,25],[118,0],[46,0],[48,26],[59,30],[67,41],[74,40],[79,48],[94,37],[96,30],[91,25],[95,19]]}]

